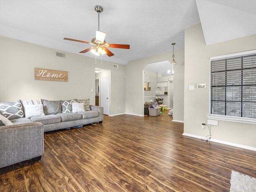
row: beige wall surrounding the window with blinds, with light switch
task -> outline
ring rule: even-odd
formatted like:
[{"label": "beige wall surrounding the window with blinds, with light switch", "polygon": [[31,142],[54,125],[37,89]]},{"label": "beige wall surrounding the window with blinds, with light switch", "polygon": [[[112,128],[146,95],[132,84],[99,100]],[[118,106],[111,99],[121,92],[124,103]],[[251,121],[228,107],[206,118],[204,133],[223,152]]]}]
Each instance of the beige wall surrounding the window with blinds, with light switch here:
[{"label": "beige wall surrounding the window with blinds, with light switch", "polygon": [[[184,78],[184,133],[205,137],[209,131],[201,128],[209,115],[209,82],[212,56],[256,49],[256,35],[206,46],[200,24],[185,30]],[[196,89],[197,83],[206,83],[206,89]],[[188,90],[194,85],[194,90]],[[256,147],[256,128],[252,124],[218,121],[212,126],[212,138],[250,147]]]}]

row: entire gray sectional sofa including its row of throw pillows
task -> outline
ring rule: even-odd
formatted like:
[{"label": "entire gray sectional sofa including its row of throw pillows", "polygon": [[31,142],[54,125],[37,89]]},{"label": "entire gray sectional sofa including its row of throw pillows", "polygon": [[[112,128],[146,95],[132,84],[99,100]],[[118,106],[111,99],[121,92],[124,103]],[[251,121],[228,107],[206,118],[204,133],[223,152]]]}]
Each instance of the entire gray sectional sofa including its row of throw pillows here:
[{"label": "entire gray sectional sofa including its row of throw pillows", "polygon": [[18,100],[0,103],[0,168],[40,160],[44,132],[103,121],[103,108],[90,100]]}]

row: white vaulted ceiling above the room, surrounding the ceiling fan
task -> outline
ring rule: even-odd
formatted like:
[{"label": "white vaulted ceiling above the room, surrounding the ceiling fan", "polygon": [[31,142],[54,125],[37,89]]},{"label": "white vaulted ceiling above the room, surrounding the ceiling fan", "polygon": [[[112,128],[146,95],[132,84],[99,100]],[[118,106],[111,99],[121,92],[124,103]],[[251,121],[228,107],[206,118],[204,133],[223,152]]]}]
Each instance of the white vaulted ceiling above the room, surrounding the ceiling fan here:
[{"label": "white vaulted ceiling above the room, surrounding the ceiling fan", "polygon": [[[106,42],[130,44],[109,48],[115,55],[103,60],[129,61],[184,48],[184,29],[201,22],[205,42],[215,44],[256,34],[254,0],[1,0],[0,36],[78,54],[98,29]],[[95,57],[88,52],[84,56]]]}]

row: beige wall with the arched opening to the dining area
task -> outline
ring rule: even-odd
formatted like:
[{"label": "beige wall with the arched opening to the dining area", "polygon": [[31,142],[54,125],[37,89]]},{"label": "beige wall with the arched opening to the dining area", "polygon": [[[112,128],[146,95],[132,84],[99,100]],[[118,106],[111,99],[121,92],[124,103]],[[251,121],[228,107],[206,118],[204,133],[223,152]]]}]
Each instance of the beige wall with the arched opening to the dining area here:
[{"label": "beige wall with the arched opening to the dining area", "polygon": [[[174,65],[174,114],[173,119],[184,120],[184,50],[175,50]],[[159,54],[139,60],[134,60],[126,65],[126,113],[143,115],[143,70],[148,63],[171,60],[172,52]],[[134,104],[135,102],[135,104]]]}]

